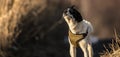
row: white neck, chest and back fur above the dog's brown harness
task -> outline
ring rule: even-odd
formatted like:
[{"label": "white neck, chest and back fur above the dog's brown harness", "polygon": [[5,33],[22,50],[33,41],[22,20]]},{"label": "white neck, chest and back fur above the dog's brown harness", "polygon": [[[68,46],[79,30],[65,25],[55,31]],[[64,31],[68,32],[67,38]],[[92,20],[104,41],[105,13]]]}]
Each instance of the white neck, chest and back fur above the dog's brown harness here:
[{"label": "white neck, chest and back fur above the dog's brown harness", "polygon": [[90,24],[90,22],[83,20],[79,23],[76,24],[68,24],[70,30],[72,33],[76,34],[76,33],[86,33],[87,29],[88,29],[88,33],[93,31],[92,25]]}]

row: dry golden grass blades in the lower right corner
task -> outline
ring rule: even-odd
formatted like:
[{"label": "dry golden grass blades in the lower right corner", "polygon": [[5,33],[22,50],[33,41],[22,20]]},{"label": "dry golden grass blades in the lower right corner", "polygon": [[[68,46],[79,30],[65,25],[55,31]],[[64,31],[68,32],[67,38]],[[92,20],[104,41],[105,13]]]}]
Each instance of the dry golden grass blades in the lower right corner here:
[{"label": "dry golden grass blades in the lower right corner", "polygon": [[114,35],[115,35],[115,39],[113,39],[112,43],[109,44],[111,51],[109,51],[104,46],[106,51],[104,52],[104,55],[102,55],[101,57],[120,57],[120,37],[116,29],[114,29]]}]

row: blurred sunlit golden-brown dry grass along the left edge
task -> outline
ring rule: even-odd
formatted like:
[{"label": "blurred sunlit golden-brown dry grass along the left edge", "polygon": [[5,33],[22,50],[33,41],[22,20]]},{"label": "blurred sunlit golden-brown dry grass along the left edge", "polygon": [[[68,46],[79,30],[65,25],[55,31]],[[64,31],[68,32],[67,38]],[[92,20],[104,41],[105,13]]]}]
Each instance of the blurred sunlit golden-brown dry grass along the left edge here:
[{"label": "blurred sunlit golden-brown dry grass along the left edge", "polygon": [[0,57],[6,57],[6,49],[21,31],[20,22],[28,13],[35,15],[43,11],[46,0],[0,0],[0,4]]}]

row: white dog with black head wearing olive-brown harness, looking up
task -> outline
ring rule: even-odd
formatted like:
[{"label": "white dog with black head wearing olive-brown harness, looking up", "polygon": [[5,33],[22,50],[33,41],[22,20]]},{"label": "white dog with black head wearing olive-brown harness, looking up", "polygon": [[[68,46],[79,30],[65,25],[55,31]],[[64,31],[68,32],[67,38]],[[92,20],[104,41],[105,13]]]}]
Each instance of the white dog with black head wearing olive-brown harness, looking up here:
[{"label": "white dog with black head wearing olive-brown harness, looking up", "polygon": [[76,57],[76,47],[81,47],[84,57],[93,57],[90,36],[93,33],[92,24],[83,19],[75,6],[68,7],[63,11],[63,18],[69,27],[70,56]]}]

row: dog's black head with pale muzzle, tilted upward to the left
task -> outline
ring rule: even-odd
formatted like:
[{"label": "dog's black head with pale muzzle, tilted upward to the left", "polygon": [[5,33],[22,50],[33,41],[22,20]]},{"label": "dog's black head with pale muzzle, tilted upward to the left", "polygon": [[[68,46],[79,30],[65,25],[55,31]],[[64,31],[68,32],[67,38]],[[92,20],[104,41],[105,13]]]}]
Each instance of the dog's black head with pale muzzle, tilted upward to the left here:
[{"label": "dog's black head with pale muzzle, tilted upward to the left", "polygon": [[77,23],[83,20],[81,14],[74,8],[74,6],[65,9],[63,12],[63,17],[67,23]]}]

